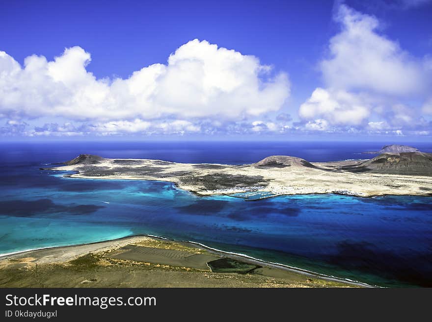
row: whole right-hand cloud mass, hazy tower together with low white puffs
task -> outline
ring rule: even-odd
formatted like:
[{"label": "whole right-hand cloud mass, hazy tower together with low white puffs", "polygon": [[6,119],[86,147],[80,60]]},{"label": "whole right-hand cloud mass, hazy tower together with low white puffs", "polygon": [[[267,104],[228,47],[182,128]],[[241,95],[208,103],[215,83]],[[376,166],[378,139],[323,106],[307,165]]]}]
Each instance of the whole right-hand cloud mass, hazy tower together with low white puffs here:
[{"label": "whole right-hand cloud mass, hazy tower together with low white puffs", "polygon": [[[401,135],[401,128],[430,126],[418,105],[404,103],[430,95],[430,57],[411,56],[379,32],[376,17],[345,4],[338,7],[334,20],[341,30],[330,39],[328,53],[319,63],[325,86],[316,88],[299,108],[304,127]],[[432,108],[426,102],[423,113],[428,111]]]}]

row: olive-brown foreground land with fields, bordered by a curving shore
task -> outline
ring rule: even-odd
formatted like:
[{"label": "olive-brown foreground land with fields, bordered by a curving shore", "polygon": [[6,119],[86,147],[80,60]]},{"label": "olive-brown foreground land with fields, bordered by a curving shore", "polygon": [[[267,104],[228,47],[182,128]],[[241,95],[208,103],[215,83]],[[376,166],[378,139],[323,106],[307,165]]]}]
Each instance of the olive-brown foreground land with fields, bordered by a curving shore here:
[{"label": "olive-brown foreground land with fields, bordered by a curving shore", "polygon": [[365,285],[149,236],[0,257],[0,287],[360,286]]}]

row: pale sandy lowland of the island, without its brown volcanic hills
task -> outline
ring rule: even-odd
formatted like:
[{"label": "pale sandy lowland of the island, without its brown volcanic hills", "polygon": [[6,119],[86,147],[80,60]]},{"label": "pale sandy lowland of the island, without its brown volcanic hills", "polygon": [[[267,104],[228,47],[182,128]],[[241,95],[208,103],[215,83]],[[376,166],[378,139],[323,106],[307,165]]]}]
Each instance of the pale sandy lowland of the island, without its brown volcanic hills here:
[{"label": "pale sandy lowland of the island, without its brown volcanic hills", "polygon": [[[302,159],[293,159],[295,160],[290,161],[287,166],[263,166],[260,163],[232,166],[101,158],[91,164],[78,163],[51,169],[77,171],[78,173],[71,175],[72,177],[170,181],[199,195],[245,192],[258,197],[266,193],[337,193],[361,197],[432,195],[431,175],[345,170],[356,169],[355,167],[365,160],[308,163]],[[306,165],[302,162],[306,162]]]}]

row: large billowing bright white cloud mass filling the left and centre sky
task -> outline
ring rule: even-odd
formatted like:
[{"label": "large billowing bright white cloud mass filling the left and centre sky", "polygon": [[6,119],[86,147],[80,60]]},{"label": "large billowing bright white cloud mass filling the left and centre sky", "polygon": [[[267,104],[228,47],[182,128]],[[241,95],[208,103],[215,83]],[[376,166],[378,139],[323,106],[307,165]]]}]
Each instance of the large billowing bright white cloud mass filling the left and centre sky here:
[{"label": "large billowing bright white cloud mass filling the left and centre sky", "polygon": [[[90,53],[65,49],[54,61],[28,56],[21,66],[0,52],[0,117],[63,117],[97,121],[96,128],[135,132],[160,122],[162,130],[196,127],[184,119],[238,120],[277,111],[289,96],[285,73],[259,59],[197,39],[129,78],[98,79],[86,70]],[[139,120],[139,121],[136,121]],[[177,121],[176,121],[177,120]]]}]

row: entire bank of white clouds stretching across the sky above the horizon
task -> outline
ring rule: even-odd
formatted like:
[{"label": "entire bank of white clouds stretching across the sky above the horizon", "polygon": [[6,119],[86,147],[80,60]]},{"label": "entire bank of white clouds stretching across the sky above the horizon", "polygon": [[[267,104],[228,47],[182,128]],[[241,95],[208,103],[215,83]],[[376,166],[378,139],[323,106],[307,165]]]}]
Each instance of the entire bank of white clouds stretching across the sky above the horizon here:
[{"label": "entire bank of white clouds stretching across the sky above the horizon", "polygon": [[287,73],[205,40],[127,78],[95,77],[81,47],[23,65],[0,51],[0,135],[431,135],[432,56],[411,55],[345,4],[333,20],[321,83],[299,106],[287,103]]}]

